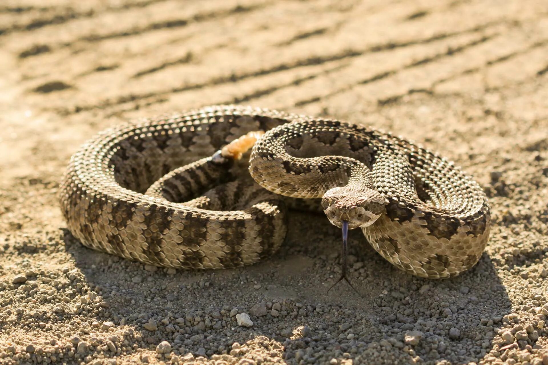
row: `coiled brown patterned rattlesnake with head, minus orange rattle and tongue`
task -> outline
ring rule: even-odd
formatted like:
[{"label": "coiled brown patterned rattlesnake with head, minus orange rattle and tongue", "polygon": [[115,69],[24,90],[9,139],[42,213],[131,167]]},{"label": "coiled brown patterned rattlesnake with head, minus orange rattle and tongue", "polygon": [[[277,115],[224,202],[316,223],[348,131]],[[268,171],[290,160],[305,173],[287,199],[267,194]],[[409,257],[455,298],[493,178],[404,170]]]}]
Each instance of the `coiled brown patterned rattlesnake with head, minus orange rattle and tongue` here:
[{"label": "coiled brown patterned rattlesnake with head, minus orange rattle and tongue", "polygon": [[[219,153],[253,131],[266,134],[249,163]],[[486,195],[452,162],[375,129],[269,109],[212,106],[106,130],[72,156],[60,189],[83,245],[184,269],[271,256],[286,206],[320,198],[332,224],[361,228],[410,274],[458,275],[487,244]]]}]

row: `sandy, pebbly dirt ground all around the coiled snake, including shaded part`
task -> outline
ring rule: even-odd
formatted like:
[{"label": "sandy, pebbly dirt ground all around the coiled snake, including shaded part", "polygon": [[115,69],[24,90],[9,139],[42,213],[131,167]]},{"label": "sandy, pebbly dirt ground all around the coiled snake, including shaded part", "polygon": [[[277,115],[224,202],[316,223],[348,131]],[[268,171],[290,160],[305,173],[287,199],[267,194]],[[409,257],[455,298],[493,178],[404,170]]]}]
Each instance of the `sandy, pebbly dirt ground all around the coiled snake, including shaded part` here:
[{"label": "sandy, pebbly dirt ground all around the coiled snake, including shaded part", "polygon": [[[546,1],[3,0],[0,363],[548,365]],[[391,130],[490,197],[455,279],[398,271],[294,213],[274,257],[173,271],[84,248],[58,182],[127,119],[245,103]],[[238,324],[249,315],[250,327]],[[243,318],[246,320],[246,318]]]}]

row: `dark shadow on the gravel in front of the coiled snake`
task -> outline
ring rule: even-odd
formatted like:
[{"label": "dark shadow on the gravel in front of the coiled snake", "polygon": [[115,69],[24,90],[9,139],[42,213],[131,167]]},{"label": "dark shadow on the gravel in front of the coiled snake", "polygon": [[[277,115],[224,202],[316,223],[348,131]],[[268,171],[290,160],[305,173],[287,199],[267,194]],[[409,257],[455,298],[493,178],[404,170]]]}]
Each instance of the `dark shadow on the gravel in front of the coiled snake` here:
[{"label": "dark shadow on the gravel in front of the coiled snake", "polygon": [[[355,230],[349,276],[360,295],[344,282],[326,293],[340,275],[340,230],[311,213],[291,212],[289,221],[275,256],[227,270],[152,268],[90,250],[65,230],[66,250],[94,297],[79,311],[131,329],[127,348],[156,355],[167,340],[172,356],[186,360],[230,354],[235,342],[290,364],[464,364],[493,349],[512,308],[486,253],[458,277],[421,279],[387,263]],[[253,326],[238,326],[239,313]]]}]

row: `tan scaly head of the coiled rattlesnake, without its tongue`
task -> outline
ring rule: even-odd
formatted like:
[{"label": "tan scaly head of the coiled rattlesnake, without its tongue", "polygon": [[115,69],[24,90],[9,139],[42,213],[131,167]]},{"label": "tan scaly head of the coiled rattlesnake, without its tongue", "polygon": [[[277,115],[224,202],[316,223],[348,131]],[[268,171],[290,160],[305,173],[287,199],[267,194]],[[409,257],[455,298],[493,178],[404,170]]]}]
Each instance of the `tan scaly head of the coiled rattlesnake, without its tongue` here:
[{"label": "tan scaly head of the coiled rattlesnake, without its tongue", "polygon": [[329,189],[322,197],[322,208],[331,224],[348,229],[368,227],[384,211],[384,194],[367,188],[349,186]]}]

